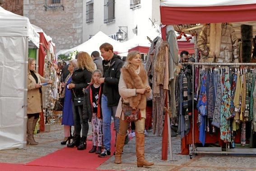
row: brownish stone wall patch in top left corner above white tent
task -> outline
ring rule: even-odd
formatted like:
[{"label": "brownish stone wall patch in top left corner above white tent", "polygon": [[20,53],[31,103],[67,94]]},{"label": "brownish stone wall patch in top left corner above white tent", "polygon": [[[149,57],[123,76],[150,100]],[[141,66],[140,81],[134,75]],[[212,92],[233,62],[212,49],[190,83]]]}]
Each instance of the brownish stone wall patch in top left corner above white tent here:
[{"label": "brownish stone wall patch in top left corner above white tent", "polygon": [[0,0],[0,6],[14,14],[23,15],[23,0]]}]

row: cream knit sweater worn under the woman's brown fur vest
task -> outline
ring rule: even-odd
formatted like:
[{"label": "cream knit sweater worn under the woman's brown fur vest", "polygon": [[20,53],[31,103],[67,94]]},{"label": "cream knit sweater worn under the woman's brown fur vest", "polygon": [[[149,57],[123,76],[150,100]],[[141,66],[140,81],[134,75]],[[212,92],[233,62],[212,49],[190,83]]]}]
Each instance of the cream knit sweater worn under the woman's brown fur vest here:
[{"label": "cream knit sweater worn under the woman's brown fur vest", "polygon": [[[138,69],[135,70],[137,74],[140,74],[140,66],[138,67]],[[145,87],[149,85],[149,82],[147,82],[145,84]],[[121,98],[123,98],[124,102],[129,102],[129,98],[136,96],[136,89],[133,88],[127,88],[127,85],[123,79],[123,74],[121,73],[120,75],[120,79],[119,79],[119,84],[118,84],[118,90],[119,90],[119,94],[121,96]],[[146,98],[149,98],[150,95],[152,94],[152,90],[148,93],[145,93]],[[121,102],[121,98],[119,100],[117,109],[116,109],[116,117],[121,118],[122,120],[124,120],[124,115],[122,115],[122,102]],[[146,118],[146,110],[140,111],[141,117],[142,118]]]}]

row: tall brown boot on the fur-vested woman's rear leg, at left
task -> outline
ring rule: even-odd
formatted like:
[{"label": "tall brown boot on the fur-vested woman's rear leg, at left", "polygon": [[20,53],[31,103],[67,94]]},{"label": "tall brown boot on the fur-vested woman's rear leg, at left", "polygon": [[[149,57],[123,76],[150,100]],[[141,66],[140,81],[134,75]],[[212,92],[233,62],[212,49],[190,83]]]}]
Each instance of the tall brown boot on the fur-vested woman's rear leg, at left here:
[{"label": "tall brown boot on the fur-vested woman's rear leg, at left", "polygon": [[125,143],[125,139],[126,139],[126,134],[119,134],[117,133],[117,137],[116,137],[116,155],[115,155],[115,163],[116,164],[121,164],[121,155],[123,152],[123,148],[124,148],[124,143]]}]

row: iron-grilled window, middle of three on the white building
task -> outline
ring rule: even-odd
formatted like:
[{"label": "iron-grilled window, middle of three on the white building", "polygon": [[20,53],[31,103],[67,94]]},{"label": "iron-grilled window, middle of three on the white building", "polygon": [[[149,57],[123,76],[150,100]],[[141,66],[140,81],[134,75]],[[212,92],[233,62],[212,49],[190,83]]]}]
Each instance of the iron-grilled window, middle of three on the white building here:
[{"label": "iron-grilled window, middle of three on the white building", "polygon": [[104,0],[104,23],[115,21],[115,0]]}]

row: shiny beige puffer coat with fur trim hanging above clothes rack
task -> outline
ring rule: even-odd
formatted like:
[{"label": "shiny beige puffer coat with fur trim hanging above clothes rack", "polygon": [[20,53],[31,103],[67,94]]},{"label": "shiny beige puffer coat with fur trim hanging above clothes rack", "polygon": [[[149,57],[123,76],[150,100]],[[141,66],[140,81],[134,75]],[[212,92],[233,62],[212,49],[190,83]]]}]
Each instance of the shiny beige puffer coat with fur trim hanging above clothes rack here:
[{"label": "shiny beige puffer coat with fur trim hanging above clothes rack", "polygon": [[238,40],[228,23],[205,25],[198,35],[197,49],[201,62],[238,63]]}]

